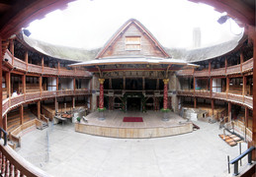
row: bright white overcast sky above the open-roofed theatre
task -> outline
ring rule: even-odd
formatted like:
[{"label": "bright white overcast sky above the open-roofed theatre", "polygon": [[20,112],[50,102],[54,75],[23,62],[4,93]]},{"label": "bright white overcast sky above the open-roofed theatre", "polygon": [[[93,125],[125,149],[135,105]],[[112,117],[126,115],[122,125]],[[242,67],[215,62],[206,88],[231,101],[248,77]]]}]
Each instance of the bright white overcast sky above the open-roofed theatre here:
[{"label": "bright white overcast sky above the open-roofed theatre", "polygon": [[128,19],[138,20],[165,47],[192,48],[193,29],[201,29],[201,46],[240,34],[234,21],[219,25],[223,15],[205,4],[186,0],[78,0],[53,11],[27,28],[37,38],[57,45],[102,47]]}]

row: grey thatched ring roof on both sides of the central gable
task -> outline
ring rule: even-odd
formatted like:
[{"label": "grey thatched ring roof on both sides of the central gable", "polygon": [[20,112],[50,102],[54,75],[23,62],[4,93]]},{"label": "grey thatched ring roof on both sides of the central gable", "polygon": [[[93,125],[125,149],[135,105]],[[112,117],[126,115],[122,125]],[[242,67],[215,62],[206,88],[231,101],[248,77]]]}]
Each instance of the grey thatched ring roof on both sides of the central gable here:
[{"label": "grey thatched ring roof on both sides of the central gable", "polygon": [[[181,49],[181,48],[166,48],[165,51],[172,56],[172,58],[181,60],[188,63],[204,61],[208,59],[213,59],[215,57],[224,55],[232,50],[234,50],[237,45],[244,41],[246,36],[238,35],[234,39],[223,42],[221,44],[216,44],[210,47],[198,48],[198,49]],[[58,59],[75,61],[75,62],[86,62],[94,60],[97,54],[102,48],[97,48],[93,50],[86,50],[81,48],[72,48],[67,46],[60,46],[50,44],[44,41],[40,41],[22,34],[22,40],[31,48],[37,50],[38,52]]]}]

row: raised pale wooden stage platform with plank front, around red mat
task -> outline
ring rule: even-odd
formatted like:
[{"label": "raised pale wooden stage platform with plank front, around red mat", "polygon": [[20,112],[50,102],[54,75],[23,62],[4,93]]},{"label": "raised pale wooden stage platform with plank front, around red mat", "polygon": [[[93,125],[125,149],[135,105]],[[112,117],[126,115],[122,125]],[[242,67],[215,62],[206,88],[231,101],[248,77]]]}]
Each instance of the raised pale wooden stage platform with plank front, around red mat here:
[{"label": "raised pale wooden stage platform with plank front, around red mat", "polygon": [[[169,121],[162,121],[162,112],[106,111],[106,119],[99,120],[100,113],[96,111],[86,116],[87,123],[83,120],[76,123],[75,131],[103,137],[131,139],[167,137],[193,131],[192,122],[187,122],[173,112],[168,114]],[[142,117],[143,122],[123,122],[124,117]]]}]

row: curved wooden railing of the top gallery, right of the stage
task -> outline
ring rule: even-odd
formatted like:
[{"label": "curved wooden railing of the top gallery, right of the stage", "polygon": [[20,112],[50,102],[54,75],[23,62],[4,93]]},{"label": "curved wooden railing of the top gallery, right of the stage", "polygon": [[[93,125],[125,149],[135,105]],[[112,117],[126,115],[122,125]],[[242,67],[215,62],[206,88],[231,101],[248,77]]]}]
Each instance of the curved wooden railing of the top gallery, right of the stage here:
[{"label": "curved wooden railing of the top gallery, right of the stage", "polygon": [[[226,76],[233,74],[240,74],[248,72],[253,69],[253,58],[243,62],[241,65],[234,65],[226,68],[212,69],[210,72],[211,76]],[[209,77],[209,70],[195,71],[192,69],[180,70],[177,72],[178,76],[191,76],[191,77]]]}]

